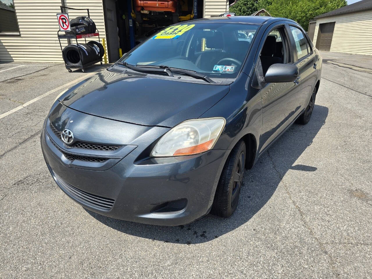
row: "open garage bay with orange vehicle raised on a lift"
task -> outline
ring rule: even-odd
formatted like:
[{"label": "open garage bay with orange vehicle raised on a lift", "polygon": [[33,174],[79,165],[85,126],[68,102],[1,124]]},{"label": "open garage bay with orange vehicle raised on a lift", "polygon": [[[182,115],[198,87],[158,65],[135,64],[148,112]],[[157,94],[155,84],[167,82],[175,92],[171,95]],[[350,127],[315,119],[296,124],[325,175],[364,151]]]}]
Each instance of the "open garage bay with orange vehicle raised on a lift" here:
[{"label": "open garage bay with orange vehicle raised on a lift", "polygon": [[199,18],[203,1],[103,0],[103,10],[109,62],[115,62],[119,48],[126,53],[166,26]]}]

